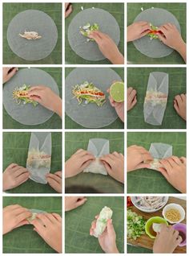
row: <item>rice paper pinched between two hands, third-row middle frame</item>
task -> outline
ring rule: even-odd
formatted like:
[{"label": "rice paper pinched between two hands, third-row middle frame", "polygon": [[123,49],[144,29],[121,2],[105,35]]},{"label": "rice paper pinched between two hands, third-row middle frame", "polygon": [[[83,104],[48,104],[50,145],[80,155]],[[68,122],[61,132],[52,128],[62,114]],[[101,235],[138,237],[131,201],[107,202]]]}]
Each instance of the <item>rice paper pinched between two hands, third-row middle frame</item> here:
[{"label": "rice paper pinched between two hands, third-row middle frame", "polygon": [[95,156],[95,160],[83,172],[107,175],[107,170],[99,158],[110,153],[109,140],[105,138],[90,138],[87,151]]}]

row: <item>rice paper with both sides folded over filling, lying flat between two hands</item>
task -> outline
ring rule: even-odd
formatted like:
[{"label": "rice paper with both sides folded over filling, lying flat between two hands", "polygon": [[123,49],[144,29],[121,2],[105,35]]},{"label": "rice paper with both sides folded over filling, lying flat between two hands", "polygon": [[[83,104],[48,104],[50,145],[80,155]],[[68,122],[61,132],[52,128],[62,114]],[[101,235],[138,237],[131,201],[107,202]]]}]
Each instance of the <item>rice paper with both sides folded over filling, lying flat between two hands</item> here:
[{"label": "rice paper with both sides folded over filling, lying flat between two hands", "polygon": [[153,125],[161,126],[167,106],[169,76],[166,72],[151,72],[147,93],[144,99],[144,121]]}]

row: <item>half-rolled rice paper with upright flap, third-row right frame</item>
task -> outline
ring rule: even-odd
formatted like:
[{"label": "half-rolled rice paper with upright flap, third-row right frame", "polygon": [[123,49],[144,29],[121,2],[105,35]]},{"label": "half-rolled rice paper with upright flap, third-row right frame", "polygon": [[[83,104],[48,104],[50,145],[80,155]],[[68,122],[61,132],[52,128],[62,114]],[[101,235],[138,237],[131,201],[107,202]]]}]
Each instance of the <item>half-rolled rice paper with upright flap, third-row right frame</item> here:
[{"label": "half-rolled rice paper with upright flap, third-row right frame", "polygon": [[172,146],[166,143],[151,143],[149,153],[153,158],[153,161],[149,162],[151,164],[150,169],[159,171],[159,168],[163,167],[159,160],[172,156]]}]

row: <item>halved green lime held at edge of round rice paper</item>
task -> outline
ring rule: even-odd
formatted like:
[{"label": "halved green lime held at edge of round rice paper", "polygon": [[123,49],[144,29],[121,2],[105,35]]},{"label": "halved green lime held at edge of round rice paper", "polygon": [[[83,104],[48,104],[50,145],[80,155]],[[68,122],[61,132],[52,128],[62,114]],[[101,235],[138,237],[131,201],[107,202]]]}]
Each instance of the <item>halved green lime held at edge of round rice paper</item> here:
[{"label": "halved green lime held at edge of round rice paper", "polygon": [[124,83],[120,81],[114,82],[110,88],[110,95],[116,102],[124,101]]}]

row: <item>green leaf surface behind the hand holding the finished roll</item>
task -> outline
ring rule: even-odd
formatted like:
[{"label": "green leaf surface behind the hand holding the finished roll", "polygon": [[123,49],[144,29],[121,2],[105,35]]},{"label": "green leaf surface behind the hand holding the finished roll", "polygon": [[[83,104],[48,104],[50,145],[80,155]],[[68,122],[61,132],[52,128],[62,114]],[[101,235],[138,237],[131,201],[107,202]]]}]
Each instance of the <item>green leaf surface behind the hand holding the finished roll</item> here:
[{"label": "green leaf surface behind the hand holding the finished roll", "polygon": [[104,206],[113,211],[113,225],[116,244],[120,253],[124,252],[124,198],[120,196],[87,197],[82,206],[65,213],[65,253],[103,253],[98,239],[89,234],[91,222]]}]

